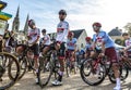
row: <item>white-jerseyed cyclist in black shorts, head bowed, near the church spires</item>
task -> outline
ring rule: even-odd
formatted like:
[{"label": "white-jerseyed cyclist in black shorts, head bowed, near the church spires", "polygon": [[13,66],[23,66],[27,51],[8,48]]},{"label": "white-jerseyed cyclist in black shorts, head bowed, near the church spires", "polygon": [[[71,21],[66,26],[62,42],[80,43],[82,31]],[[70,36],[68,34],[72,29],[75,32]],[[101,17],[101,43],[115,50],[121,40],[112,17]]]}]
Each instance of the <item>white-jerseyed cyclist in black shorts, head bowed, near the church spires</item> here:
[{"label": "white-jerseyed cyclist in black shorts, head bowed, near the church spires", "polygon": [[[29,44],[31,50],[33,50],[34,52],[34,62],[35,62],[35,68],[36,68],[36,74],[37,74],[38,73],[38,56],[39,56],[38,40],[40,37],[40,30],[39,28],[36,27],[34,20],[28,21],[28,26],[31,28],[27,34],[28,44]],[[38,83],[38,78],[36,78],[36,83]]]}]

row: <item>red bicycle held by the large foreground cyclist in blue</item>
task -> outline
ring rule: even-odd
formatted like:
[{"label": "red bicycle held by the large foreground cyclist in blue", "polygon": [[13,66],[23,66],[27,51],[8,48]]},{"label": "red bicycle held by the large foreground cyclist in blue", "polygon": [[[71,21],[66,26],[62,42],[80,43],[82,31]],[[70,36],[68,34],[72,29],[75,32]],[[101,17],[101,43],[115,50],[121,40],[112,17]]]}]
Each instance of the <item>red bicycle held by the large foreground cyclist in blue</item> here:
[{"label": "red bicycle held by the large foreground cyclist in blue", "polygon": [[[106,56],[97,57],[95,60],[93,59],[85,60],[82,63],[80,69],[80,74],[83,81],[90,86],[97,86],[104,81],[106,76],[108,76],[109,80],[115,83],[116,82],[115,74],[111,68],[112,63],[110,64],[107,63],[108,62],[107,60],[108,59],[106,59]],[[123,74],[124,70],[126,74]],[[119,73],[120,73],[120,79],[124,80],[129,74],[129,70],[126,68],[124,65],[121,64],[119,66]]]}]

